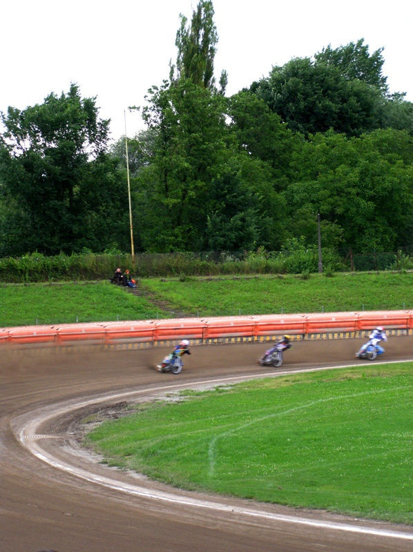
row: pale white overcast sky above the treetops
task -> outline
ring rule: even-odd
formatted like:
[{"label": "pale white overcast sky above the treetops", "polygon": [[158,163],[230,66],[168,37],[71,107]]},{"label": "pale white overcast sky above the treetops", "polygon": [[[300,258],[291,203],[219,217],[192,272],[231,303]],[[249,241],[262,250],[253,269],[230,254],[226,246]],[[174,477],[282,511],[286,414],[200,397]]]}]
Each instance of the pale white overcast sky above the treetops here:
[{"label": "pale white overcast sky above the treetops", "polygon": [[[0,111],[43,103],[77,83],[111,119],[111,139],[145,128],[140,112],[151,86],[169,77],[180,14],[198,0],[10,0],[0,5]],[[273,66],[313,57],[326,46],[364,39],[384,48],[390,92],[413,101],[413,3],[405,0],[213,0],[218,32],[215,79],[227,95],[268,77]]]}]

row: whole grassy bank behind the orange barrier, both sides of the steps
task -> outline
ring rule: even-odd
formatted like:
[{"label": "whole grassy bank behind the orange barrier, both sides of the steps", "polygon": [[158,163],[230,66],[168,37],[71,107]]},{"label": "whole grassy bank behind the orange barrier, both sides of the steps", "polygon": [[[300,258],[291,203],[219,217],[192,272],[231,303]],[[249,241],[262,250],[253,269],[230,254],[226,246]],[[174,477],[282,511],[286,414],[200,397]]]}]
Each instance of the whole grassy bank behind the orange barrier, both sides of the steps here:
[{"label": "whole grassy bank behind the orange barrier, both sides of the steps", "polygon": [[[141,279],[140,287],[188,315],[413,309],[413,273],[334,277]],[[172,310],[108,282],[0,287],[0,326],[169,318]]]}]

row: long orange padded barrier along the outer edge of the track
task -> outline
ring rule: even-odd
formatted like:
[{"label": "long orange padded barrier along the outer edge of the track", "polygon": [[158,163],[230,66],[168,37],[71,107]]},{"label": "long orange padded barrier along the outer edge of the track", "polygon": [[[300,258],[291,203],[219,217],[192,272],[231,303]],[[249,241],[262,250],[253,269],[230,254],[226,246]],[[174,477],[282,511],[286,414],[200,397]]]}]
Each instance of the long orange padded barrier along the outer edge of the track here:
[{"label": "long orange padded barrier along the outer edge of the track", "polygon": [[314,313],[296,315],[257,315],[209,317],[133,322],[100,322],[54,326],[19,326],[0,329],[2,344],[68,344],[88,341],[105,344],[119,342],[164,342],[195,339],[198,342],[289,334],[305,338],[314,334],[349,333],[349,337],[376,326],[387,331],[413,328],[413,311],[363,311],[358,313]]}]

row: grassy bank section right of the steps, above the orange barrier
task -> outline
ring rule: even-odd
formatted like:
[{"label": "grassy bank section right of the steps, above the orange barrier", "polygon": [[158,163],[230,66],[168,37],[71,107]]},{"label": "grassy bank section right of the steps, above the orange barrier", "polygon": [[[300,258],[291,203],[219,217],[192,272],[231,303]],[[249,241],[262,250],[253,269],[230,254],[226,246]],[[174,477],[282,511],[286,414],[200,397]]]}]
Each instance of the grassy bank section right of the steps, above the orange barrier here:
[{"label": "grassy bank section right of the steps, above the orange barrier", "polygon": [[413,308],[413,273],[147,279],[142,284],[200,316]]}]

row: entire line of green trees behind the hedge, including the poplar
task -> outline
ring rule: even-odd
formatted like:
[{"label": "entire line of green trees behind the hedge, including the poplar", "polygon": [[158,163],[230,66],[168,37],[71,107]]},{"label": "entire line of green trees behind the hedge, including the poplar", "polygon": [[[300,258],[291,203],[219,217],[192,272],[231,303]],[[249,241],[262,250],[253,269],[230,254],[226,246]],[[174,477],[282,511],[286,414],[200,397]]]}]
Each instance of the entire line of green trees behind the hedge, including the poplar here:
[{"label": "entire line of green trees behind the hedge, including the poplar", "polygon": [[[1,114],[0,257],[413,247],[413,103],[364,40],[273,66],[227,97],[212,1],[180,16],[145,130],[111,144],[76,83]],[[318,226],[320,221],[320,226]]]}]

